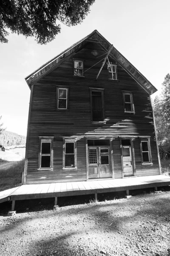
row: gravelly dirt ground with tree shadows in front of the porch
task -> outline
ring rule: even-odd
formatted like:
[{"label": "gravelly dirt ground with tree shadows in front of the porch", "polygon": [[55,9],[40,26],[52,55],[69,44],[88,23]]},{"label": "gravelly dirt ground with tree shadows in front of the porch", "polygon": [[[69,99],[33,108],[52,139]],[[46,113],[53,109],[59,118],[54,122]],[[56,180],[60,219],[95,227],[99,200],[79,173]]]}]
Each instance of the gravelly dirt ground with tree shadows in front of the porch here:
[{"label": "gravelly dirt ground with tree shadows in front of the porch", "polygon": [[[170,186],[120,194],[0,204],[1,256],[170,256]],[[132,192],[133,193],[133,192]],[[90,202],[89,202],[90,201]]]}]

